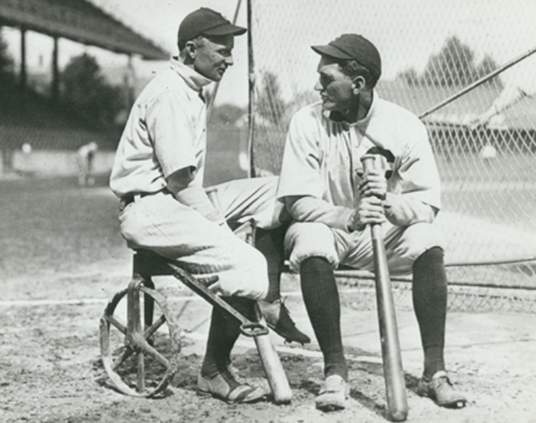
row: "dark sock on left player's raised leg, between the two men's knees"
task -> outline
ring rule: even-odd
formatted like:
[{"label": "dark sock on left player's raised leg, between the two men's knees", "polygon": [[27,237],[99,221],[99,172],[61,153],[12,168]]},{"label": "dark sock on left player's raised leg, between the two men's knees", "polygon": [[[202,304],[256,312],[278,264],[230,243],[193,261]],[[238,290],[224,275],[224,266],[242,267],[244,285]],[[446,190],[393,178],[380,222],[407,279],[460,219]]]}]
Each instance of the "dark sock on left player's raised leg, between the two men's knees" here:
[{"label": "dark sock on left player's raised leg, between the two men's knees", "polygon": [[273,302],[280,298],[281,268],[285,260],[283,242],[287,226],[275,229],[256,228],[255,247],[263,253],[268,264],[268,295],[267,302]]}]

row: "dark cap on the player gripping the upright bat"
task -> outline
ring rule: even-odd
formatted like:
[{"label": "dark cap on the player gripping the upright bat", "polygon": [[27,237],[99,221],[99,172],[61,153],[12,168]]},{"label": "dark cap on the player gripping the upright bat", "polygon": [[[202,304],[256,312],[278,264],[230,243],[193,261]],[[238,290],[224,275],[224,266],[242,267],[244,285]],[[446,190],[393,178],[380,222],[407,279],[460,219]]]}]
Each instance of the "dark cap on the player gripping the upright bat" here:
[{"label": "dark cap on the player gripping the upright bat", "polygon": [[343,34],[328,45],[311,46],[311,49],[318,54],[335,59],[359,61],[376,78],[380,78],[380,75],[382,75],[380,52],[363,35]]}]

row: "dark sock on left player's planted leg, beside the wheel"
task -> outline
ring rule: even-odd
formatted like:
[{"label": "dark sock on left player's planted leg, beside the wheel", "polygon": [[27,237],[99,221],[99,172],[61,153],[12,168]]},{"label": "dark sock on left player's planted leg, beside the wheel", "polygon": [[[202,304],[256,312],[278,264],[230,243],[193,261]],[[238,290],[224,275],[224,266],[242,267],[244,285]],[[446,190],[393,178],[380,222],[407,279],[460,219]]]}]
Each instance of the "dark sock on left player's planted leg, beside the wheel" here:
[{"label": "dark sock on left player's planted leg, beside the wheel", "polygon": [[[223,298],[247,319],[256,320],[255,302],[247,298]],[[213,307],[211,327],[206,341],[206,353],[201,374],[213,377],[227,371],[232,347],[240,334],[240,322],[220,307]]]}]

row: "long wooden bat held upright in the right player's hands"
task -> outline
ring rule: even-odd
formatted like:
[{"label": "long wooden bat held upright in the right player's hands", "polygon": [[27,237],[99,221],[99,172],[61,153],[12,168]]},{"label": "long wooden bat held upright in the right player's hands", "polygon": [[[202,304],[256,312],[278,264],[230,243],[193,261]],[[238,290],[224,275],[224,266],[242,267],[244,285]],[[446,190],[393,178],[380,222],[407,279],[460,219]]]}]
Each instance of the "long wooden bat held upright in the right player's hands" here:
[{"label": "long wooden bat held upright in the right player's hands", "polygon": [[[375,168],[375,156],[373,154],[365,154],[361,157],[361,162],[365,173]],[[404,371],[402,370],[397,315],[394,311],[382,226],[379,223],[370,225],[370,237],[372,238],[374,257],[376,303],[382,345],[385,391],[387,393],[387,411],[394,422],[404,422],[408,415],[406,384],[404,383]]]}]

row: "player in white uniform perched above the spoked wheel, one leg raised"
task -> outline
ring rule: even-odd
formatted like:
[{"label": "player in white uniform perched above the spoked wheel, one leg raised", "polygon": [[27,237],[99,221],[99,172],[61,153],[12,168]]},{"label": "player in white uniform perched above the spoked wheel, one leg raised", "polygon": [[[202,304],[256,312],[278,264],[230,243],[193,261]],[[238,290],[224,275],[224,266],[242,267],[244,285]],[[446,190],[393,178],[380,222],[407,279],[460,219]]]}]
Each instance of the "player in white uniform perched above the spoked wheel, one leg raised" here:
[{"label": "player in white uniform perched above the spoked wheel, one leg raised", "polygon": [[[253,219],[260,231],[278,228],[285,207],[275,197],[277,179],[223,183],[211,188],[212,201],[203,188],[203,90],[232,66],[234,37],[244,32],[246,28],[208,8],[182,20],[179,55],[149,82],[132,107],[110,187],[120,197],[120,232],[127,245],[173,259],[199,278],[217,275],[211,288],[255,320],[255,302],[268,299],[266,259],[239,239],[227,222],[240,225]],[[273,302],[264,304],[269,326],[289,340],[308,342],[282,306],[278,287],[270,287],[270,297]],[[264,397],[263,389],[238,381],[230,372],[230,353],[238,336],[239,321],[214,308],[199,393],[236,403]]]}]

